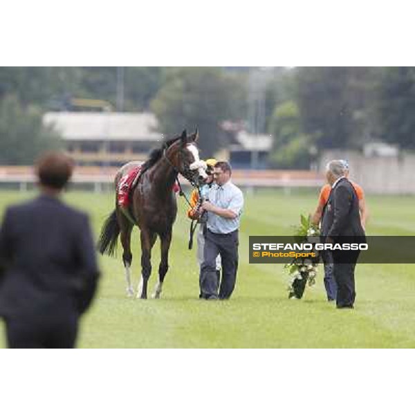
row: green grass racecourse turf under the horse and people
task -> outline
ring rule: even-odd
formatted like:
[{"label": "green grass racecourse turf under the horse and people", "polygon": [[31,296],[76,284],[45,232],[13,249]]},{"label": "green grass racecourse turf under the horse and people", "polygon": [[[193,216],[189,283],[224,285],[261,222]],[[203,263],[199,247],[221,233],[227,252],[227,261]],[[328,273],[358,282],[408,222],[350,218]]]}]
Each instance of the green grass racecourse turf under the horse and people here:
[{"label": "green grass racecourse turf under the horse and people", "polygon": [[[1,192],[0,213],[30,196]],[[66,200],[91,214],[95,235],[113,207],[112,194],[74,192]],[[189,223],[181,201],[163,298],[127,299],[120,255],[101,257],[99,293],[82,320],[78,347],[415,347],[415,265],[358,265],[356,309],[338,311],[326,302],[321,266],[317,284],[299,301],[287,299],[282,266],[248,264],[249,235],[291,234],[299,214],[311,212],[316,201],[317,191],[246,194],[237,288],[228,302],[197,299],[199,269],[195,250],[187,250]],[[368,234],[415,234],[415,197],[369,196],[367,204]],[[138,230],[133,247],[136,286]],[[149,293],[158,277],[158,243],[156,248]]]}]

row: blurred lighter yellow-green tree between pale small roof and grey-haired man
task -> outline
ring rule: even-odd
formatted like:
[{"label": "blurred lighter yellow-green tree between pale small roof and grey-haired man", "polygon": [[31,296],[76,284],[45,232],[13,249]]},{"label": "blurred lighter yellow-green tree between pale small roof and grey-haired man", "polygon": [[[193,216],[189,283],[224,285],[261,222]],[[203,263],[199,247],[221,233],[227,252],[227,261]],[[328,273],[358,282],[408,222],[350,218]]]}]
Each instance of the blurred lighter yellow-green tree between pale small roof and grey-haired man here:
[{"label": "blurred lighter yellow-green tree between pale small roof and grey-haired man", "polygon": [[299,110],[293,101],[279,105],[270,119],[270,133],[274,137],[270,164],[279,169],[308,169],[312,143],[302,133]]}]

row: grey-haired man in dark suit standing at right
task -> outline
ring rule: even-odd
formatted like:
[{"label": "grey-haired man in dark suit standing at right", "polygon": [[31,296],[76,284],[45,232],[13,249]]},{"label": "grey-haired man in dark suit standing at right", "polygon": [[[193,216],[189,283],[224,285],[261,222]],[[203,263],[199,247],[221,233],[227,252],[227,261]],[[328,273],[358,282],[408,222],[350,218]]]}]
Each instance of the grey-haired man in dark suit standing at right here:
[{"label": "grey-haired man in dark suit standing at right", "polygon": [[[332,160],[326,167],[326,178],[332,187],[322,219],[326,243],[364,243],[359,201],[353,185],[346,178],[342,160]],[[333,250],[333,276],[338,286],[338,308],[353,308],[356,298],[354,270],[359,250]]]}]

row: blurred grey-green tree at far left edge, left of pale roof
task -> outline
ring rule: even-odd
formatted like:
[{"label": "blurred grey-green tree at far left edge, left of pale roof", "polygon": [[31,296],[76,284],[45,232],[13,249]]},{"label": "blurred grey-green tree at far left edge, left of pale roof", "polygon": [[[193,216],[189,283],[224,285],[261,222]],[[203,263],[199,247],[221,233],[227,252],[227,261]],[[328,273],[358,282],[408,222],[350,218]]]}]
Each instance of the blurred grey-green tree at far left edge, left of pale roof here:
[{"label": "blurred grey-green tree at far left edge, left of pale roof", "polygon": [[24,107],[16,95],[0,101],[0,165],[32,165],[42,151],[60,147],[59,136],[42,124],[42,112]]}]

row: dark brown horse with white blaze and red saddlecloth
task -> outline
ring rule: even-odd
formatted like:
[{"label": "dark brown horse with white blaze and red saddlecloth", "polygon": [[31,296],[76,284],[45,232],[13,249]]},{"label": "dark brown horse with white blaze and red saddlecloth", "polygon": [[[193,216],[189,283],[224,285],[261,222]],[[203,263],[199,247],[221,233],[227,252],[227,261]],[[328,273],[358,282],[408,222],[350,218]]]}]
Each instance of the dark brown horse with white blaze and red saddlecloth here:
[{"label": "dark brown horse with white blaze and red saddlecloth", "polygon": [[[185,177],[194,187],[201,185],[207,177],[204,162],[199,158],[199,149],[196,145],[198,138],[197,129],[190,136],[187,136],[185,130],[181,136],[166,141],[160,149],[152,151],[149,159],[142,165],[138,182],[131,190],[129,214],[122,212],[116,200],[116,208],[102,226],[98,241],[98,250],[102,255],[107,253],[113,256],[116,252],[118,236],[120,237],[129,297],[134,295],[130,272],[133,259],[131,231],[133,226],[137,225],[140,228],[141,243],[141,278],[137,298],[147,299],[147,282],[151,275],[151,248],[157,236],[160,238],[161,258],[158,283],[152,297],[160,298],[165,275],[169,269],[169,248],[172,242],[173,223],[177,215],[176,196],[172,187],[178,174]],[[120,178],[137,165],[139,163],[130,162],[121,167],[115,178],[116,189]]]}]

